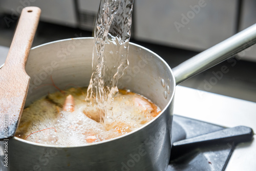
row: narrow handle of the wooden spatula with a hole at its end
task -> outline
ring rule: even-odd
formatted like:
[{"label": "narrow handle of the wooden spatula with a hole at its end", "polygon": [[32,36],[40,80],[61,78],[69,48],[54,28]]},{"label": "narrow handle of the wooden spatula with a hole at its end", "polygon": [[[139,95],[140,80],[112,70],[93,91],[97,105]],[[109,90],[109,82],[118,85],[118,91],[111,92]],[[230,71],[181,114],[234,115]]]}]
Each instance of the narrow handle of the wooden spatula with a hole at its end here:
[{"label": "narrow handle of the wooden spatula with a hole at its end", "polygon": [[5,67],[12,65],[15,66],[16,69],[25,71],[40,13],[41,10],[38,7],[26,7],[23,9],[5,61]]}]

